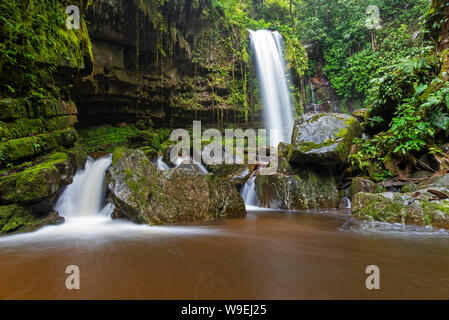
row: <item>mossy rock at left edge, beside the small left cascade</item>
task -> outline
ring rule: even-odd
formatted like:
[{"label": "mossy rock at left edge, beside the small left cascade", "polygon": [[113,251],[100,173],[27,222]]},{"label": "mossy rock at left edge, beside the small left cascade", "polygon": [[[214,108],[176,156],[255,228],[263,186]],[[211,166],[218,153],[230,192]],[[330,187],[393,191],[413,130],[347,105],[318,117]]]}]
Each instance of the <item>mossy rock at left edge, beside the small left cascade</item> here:
[{"label": "mossy rock at left edge, beside the small left cascade", "polygon": [[66,153],[49,155],[41,163],[0,177],[0,203],[39,202],[71,183],[72,177],[72,164]]}]

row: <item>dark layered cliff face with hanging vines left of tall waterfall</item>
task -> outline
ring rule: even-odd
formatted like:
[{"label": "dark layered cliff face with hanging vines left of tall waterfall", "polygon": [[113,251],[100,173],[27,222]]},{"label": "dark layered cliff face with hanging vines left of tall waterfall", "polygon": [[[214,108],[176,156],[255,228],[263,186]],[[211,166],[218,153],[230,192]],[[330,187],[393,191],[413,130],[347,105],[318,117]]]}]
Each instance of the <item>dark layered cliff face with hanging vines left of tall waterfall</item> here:
[{"label": "dark layered cliff face with hanging vines left of tall waterfall", "polygon": [[80,123],[245,122],[241,38],[205,14],[211,1],[161,3],[99,0],[89,8],[94,72],[72,90]]}]

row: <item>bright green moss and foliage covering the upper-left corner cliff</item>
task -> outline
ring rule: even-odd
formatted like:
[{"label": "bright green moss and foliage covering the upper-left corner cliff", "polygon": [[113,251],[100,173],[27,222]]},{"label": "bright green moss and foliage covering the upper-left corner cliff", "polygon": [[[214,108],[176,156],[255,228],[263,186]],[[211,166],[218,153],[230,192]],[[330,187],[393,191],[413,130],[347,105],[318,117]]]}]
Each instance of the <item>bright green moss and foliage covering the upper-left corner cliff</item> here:
[{"label": "bright green moss and foliage covering the upper-left corner cliff", "polygon": [[0,3],[0,94],[44,98],[57,65],[79,67],[82,30],[67,30],[56,0]]}]

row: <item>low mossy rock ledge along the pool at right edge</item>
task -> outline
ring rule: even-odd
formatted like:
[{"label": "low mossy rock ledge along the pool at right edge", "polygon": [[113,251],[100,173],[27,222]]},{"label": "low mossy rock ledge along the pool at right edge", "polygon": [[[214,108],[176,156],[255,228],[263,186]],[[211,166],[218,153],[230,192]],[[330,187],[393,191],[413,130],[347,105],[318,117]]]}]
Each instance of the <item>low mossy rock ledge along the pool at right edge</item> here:
[{"label": "low mossy rock ledge along the pool at right edge", "polygon": [[352,200],[352,215],[369,221],[449,229],[449,200],[434,199],[425,192],[420,197],[407,193],[359,192]]}]

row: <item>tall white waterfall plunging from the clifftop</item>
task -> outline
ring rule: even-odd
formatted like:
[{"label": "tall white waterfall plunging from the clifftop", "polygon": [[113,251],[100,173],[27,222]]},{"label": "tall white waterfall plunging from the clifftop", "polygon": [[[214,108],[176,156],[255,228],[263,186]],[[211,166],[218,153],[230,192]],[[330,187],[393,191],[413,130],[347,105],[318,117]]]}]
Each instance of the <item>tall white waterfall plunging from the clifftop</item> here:
[{"label": "tall white waterfall plunging from the clifftop", "polygon": [[282,54],[282,36],[277,31],[249,32],[262,96],[265,127],[272,132],[270,144],[277,146],[279,142],[290,143],[294,117]]}]

